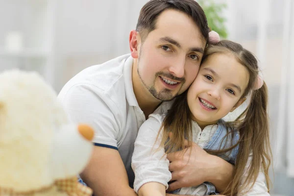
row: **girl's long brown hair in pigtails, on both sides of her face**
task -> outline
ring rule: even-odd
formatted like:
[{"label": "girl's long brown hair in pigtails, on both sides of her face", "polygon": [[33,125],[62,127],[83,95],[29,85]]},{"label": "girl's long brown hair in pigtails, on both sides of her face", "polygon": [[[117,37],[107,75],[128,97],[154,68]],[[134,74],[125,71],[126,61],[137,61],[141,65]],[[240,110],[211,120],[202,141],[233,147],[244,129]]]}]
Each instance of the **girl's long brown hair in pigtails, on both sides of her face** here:
[{"label": "girl's long brown hair in pigtails, on both sides of her face", "polygon": [[[218,151],[207,151],[211,154],[219,154],[231,150],[239,145],[239,152],[233,173],[233,179],[223,195],[233,196],[237,192],[249,190],[253,186],[250,182],[255,182],[259,172],[264,172],[267,186],[270,186],[269,168],[271,161],[269,117],[267,113],[268,106],[268,88],[264,83],[262,88],[252,90],[255,80],[258,76],[259,68],[255,56],[240,44],[223,40],[218,44],[209,45],[205,49],[202,62],[213,53],[231,53],[234,54],[238,62],[247,68],[249,73],[249,82],[242,98],[250,94],[250,102],[245,111],[234,121],[226,123],[232,127],[231,130],[238,130],[240,139],[236,145],[227,149]],[[187,91],[178,96],[172,108],[169,110],[161,129],[162,143],[167,152],[184,149],[184,140],[192,141],[192,118],[191,111],[187,102]],[[172,137],[169,137],[172,133]],[[230,134],[228,131],[227,134]],[[251,164],[244,176],[245,165],[250,152],[253,153]],[[242,179],[244,183],[241,184]]]}]

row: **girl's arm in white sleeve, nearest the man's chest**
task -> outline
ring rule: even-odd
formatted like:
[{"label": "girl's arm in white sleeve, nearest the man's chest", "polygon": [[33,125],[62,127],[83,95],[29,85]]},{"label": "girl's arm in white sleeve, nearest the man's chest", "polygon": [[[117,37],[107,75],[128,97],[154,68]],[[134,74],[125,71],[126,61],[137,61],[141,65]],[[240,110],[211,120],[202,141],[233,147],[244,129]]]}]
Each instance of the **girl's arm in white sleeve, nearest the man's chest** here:
[{"label": "girl's arm in white sleeve, nearest the man's chest", "polygon": [[142,196],[160,196],[160,194],[165,196],[168,182],[172,178],[169,160],[164,147],[160,146],[161,137],[157,139],[161,119],[160,115],[150,116],[140,127],[134,146],[132,156],[132,169],[135,173],[134,190],[136,193],[140,190],[139,195]]}]

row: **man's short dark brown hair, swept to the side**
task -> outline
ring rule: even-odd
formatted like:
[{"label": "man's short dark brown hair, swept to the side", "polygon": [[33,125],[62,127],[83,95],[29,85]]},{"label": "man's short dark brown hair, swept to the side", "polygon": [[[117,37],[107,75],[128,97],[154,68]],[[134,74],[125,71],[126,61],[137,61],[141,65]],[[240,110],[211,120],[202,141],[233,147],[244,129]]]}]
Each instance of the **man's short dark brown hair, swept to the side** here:
[{"label": "man's short dark brown hair, swept to the side", "polygon": [[209,27],[203,9],[195,0],[150,0],[141,9],[136,31],[142,41],[155,29],[158,16],[167,9],[181,11],[190,16],[198,26],[205,42],[208,40]]}]

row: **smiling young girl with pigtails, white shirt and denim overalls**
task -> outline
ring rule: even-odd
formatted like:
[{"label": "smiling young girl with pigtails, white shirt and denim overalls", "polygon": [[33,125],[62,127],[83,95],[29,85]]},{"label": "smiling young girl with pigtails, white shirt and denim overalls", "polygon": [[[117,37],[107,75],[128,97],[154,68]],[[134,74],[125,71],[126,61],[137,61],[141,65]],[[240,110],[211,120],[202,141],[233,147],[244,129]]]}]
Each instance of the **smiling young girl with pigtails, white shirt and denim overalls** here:
[{"label": "smiling young girl with pigtails, white shirt and denim overalls", "polygon": [[[165,196],[172,178],[166,153],[184,149],[186,139],[235,165],[223,195],[269,195],[268,93],[258,73],[256,58],[240,44],[223,40],[207,47],[190,88],[175,98],[167,114],[150,115],[139,130],[132,158],[139,196]],[[245,112],[234,122],[224,122],[246,98]],[[204,182],[173,193],[215,192],[213,184]]]}]

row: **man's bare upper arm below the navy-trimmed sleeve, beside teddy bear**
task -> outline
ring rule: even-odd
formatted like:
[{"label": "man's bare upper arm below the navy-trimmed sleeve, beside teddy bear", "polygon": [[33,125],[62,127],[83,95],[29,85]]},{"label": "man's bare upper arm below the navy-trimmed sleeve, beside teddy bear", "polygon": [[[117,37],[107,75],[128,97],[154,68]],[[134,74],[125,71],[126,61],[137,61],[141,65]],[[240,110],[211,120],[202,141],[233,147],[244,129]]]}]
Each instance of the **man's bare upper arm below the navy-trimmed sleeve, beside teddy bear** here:
[{"label": "man's bare upper arm below the navy-trimmed sleeve, beside teddy bear", "polygon": [[91,160],[80,176],[95,196],[137,196],[129,187],[123,161],[116,149],[94,147]]}]

